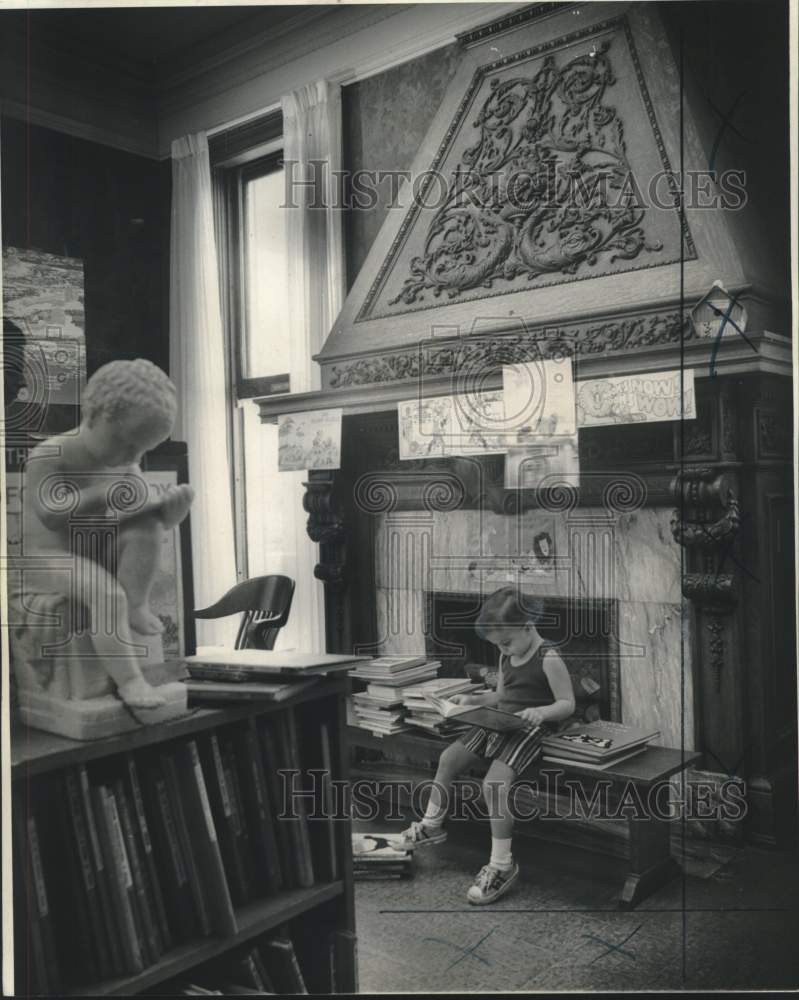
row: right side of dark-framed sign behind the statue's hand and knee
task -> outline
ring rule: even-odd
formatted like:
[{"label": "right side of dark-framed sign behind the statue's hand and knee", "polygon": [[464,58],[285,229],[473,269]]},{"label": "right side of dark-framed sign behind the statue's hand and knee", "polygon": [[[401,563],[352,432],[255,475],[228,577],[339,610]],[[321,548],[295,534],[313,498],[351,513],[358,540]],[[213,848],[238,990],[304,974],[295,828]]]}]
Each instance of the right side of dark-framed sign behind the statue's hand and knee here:
[{"label": "right side of dark-framed sign behind the statue's hand and knee", "polygon": [[[142,471],[152,496],[168,486],[189,481],[189,463],[183,441],[165,441],[147,454]],[[177,531],[166,533],[161,567],[150,594],[153,614],[164,626],[164,656],[180,659],[196,652],[194,627],[194,576],[191,561],[191,515]]]}]

